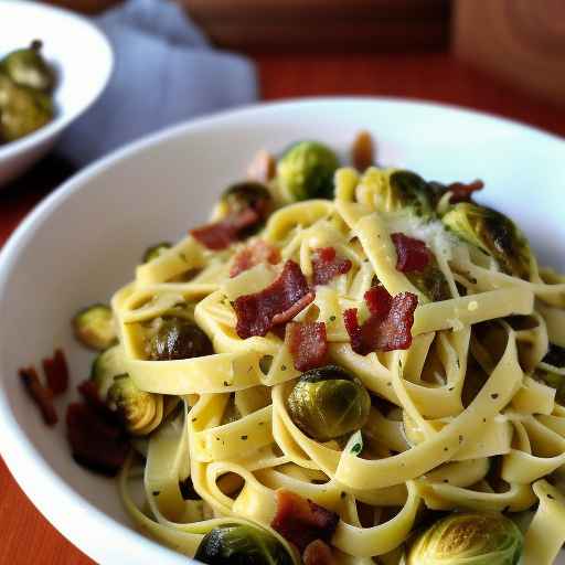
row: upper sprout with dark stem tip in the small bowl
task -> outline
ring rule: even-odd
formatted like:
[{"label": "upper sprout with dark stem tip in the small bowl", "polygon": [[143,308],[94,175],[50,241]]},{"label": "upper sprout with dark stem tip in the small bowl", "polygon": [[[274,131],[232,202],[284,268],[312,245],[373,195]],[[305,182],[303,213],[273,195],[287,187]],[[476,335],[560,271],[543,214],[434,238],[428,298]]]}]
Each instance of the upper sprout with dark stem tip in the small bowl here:
[{"label": "upper sprout with dark stem tip in the small bowl", "polygon": [[55,75],[43,58],[41,41],[33,41],[29,47],[9,53],[0,68],[18,85],[50,93],[55,86]]}]

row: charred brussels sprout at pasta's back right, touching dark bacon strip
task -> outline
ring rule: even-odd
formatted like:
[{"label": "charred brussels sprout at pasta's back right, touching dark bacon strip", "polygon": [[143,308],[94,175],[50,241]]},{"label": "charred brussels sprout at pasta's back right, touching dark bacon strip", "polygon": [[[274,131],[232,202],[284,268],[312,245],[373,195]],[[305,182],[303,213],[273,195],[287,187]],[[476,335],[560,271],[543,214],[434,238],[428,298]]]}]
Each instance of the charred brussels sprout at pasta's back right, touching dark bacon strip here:
[{"label": "charred brussels sprout at pasta's back right, touching dark bacon strip", "polygon": [[380,207],[384,212],[409,210],[423,220],[434,220],[441,195],[437,183],[428,183],[412,171],[395,171],[388,185],[382,188]]}]

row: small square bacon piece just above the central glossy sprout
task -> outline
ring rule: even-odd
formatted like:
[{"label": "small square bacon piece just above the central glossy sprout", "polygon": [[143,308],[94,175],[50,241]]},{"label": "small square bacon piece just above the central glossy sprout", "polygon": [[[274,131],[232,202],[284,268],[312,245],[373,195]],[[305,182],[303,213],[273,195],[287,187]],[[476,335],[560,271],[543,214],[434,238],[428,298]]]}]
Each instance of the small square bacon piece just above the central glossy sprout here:
[{"label": "small square bacon piece just above the central glossy sprout", "polygon": [[309,371],[326,364],[328,358],[326,323],[291,322],[287,326],[287,341],[297,371]]}]

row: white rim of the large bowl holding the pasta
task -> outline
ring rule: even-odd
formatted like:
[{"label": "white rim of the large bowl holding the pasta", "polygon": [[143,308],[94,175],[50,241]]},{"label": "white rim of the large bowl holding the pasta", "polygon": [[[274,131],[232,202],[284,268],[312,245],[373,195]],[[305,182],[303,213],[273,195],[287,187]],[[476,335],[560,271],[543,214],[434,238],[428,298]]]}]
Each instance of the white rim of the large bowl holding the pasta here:
[{"label": "white rim of the large bowl holding the pasta", "polygon": [[[87,190],[88,181],[96,179],[99,173],[117,166],[120,161],[135,158],[137,153],[157,147],[164,141],[205,130],[210,126],[217,126],[218,124],[230,120],[242,122],[249,118],[260,118],[262,115],[268,115],[277,110],[292,111],[300,108],[313,108],[321,104],[350,107],[352,105],[377,106],[380,103],[404,106],[405,108],[420,107],[435,111],[463,113],[467,117],[480,119],[484,124],[490,122],[498,127],[510,127],[515,131],[523,131],[539,139],[546,139],[552,142],[557,141],[565,148],[564,138],[516,120],[461,106],[405,97],[318,96],[289,98],[281,102],[255,103],[236,109],[216,113],[211,116],[203,116],[198,119],[167,127],[113,151],[74,174],[38,204],[10,235],[3,248],[0,249],[0,302],[3,296],[2,289],[7,284],[13,265],[18,260],[19,250],[33,238],[35,228],[49,218],[50,214],[60,203],[82,190]],[[0,349],[0,358],[1,356],[2,350]],[[8,379],[0,375],[0,423],[2,424],[0,425],[0,455],[3,457],[12,477],[26,497],[60,533],[88,556],[102,561],[103,563],[105,562],[104,556],[107,556],[103,546],[107,546],[110,540],[115,546],[127,547],[131,561],[134,561],[135,557],[140,564],[152,564],[156,559],[159,559],[159,563],[164,565],[190,563],[190,561],[186,561],[186,556],[178,554],[158,542],[150,541],[134,531],[132,527],[127,527],[105,514],[90,502],[83,499],[62,477],[56,475],[39,451],[35,450],[31,439],[28,438],[19,427],[10,409],[8,398],[3,393],[4,383],[8,383]],[[81,472],[78,467],[77,469],[78,472]],[[56,504],[53,504],[54,497],[56,497],[57,500]],[[81,520],[70,520],[70,515],[79,515]],[[76,522],[79,523],[79,526]],[[93,535],[92,532],[95,532],[95,535]],[[100,544],[100,541],[104,541],[104,543]]]}]

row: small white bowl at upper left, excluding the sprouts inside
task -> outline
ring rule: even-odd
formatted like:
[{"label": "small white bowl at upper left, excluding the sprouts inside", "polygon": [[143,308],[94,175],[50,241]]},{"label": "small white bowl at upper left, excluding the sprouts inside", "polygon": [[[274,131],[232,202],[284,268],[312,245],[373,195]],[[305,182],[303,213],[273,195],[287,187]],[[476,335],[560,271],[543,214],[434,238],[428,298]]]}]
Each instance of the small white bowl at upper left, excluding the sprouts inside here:
[{"label": "small white bowl at upper left, excluding the sprouts inside", "polygon": [[21,0],[0,1],[0,57],[43,41],[43,53],[58,75],[55,118],[45,127],[0,146],[0,188],[43,157],[63,130],[104,90],[114,57],[105,35],[84,18]]}]

